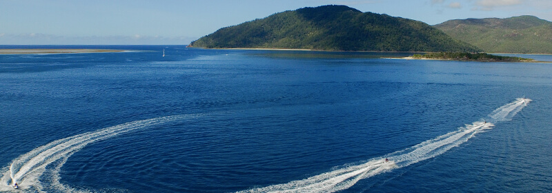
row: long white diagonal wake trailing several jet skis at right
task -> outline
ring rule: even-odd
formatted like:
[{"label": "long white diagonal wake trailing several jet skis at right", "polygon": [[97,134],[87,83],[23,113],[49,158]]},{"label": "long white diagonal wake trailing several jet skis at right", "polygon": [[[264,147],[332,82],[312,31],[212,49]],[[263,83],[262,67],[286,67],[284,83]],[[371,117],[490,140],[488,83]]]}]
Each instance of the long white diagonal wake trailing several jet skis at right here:
[{"label": "long white diagonal wake trailing several jet skis at right", "polygon": [[[457,131],[437,136],[435,139],[424,141],[405,150],[371,159],[366,163],[351,165],[317,176],[312,176],[308,179],[240,192],[337,192],[346,190],[355,185],[359,180],[400,167],[406,167],[413,163],[443,154],[451,148],[468,141],[475,133],[491,129],[497,122],[510,121],[513,116],[515,116],[517,112],[520,112],[522,108],[526,107],[529,102],[531,102],[531,99],[516,99],[512,103],[503,105],[491,112],[491,114],[489,114],[491,117],[490,121],[473,122],[470,125],[459,128]],[[386,162],[386,158],[390,161]]]}]

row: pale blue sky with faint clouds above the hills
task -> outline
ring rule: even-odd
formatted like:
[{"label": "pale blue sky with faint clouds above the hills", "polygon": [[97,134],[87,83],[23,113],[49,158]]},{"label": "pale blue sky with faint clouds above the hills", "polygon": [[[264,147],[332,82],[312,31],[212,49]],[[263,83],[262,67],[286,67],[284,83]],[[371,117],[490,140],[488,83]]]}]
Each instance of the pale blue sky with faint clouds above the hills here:
[{"label": "pale blue sky with faint clouds above the hills", "polygon": [[524,14],[552,21],[552,0],[0,0],[0,45],[184,45],[226,26],[328,4],[430,25]]}]

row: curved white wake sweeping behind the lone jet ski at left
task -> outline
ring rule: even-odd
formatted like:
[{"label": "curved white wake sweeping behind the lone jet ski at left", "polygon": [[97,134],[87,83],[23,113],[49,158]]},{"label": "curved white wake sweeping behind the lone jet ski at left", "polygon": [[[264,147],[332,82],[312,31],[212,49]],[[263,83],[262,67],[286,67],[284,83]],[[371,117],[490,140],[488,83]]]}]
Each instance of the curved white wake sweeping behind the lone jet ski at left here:
[{"label": "curved white wake sweeping behind the lone jet ski at left", "polygon": [[[12,190],[12,187],[8,186],[18,183],[19,189],[21,190],[33,188],[39,192],[43,192],[43,184],[39,179],[47,172],[47,167],[55,167],[56,171],[52,172],[57,173],[57,170],[61,168],[61,165],[63,165],[72,154],[78,152],[90,143],[108,139],[124,132],[196,116],[198,115],[163,116],[154,119],[132,121],[110,128],[103,128],[95,132],[77,134],[65,139],[53,141],[14,159],[9,166],[9,170],[4,172],[0,179],[0,191]],[[50,180],[55,182],[51,184],[51,187],[58,187],[55,189],[63,187],[56,179]]]}]

